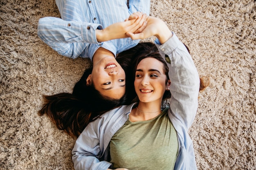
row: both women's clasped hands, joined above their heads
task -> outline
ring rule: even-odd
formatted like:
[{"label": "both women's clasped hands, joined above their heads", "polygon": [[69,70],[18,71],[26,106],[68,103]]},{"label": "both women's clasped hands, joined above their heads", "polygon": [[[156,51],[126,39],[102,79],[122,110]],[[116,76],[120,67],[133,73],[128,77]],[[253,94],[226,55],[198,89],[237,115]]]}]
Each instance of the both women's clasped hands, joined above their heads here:
[{"label": "both women's clasped hands, joined above their heads", "polygon": [[173,33],[159,18],[136,12],[124,22],[117,22],[103,30],[97,30],[96,35],[98,42],[128,37],[132,40],[138,40],[155,35],[163,44],[172,37]]}]

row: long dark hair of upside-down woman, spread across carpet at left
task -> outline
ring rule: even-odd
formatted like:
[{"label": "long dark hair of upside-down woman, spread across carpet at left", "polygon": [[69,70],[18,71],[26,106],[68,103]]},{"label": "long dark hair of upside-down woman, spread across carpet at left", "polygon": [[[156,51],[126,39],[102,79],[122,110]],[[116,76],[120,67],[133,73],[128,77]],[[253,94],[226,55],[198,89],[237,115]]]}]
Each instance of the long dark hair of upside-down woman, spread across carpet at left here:
[{"label": "long dark hair of upside-down woman, spread across carpet at left", "polygon": [[59,130],[64,130],[72,137],[78,137],[91,121],[106,111],[130,104],[129,101],[133,97],[129,93],[125,93],[121,99],[112,99],[101,95],[93,84],[87,86],[86,79],[91,73],[92,68],[84,72],[75,84],[72,94],[44,95],[43,108],[38,111],[38,115],[47,115]]}]

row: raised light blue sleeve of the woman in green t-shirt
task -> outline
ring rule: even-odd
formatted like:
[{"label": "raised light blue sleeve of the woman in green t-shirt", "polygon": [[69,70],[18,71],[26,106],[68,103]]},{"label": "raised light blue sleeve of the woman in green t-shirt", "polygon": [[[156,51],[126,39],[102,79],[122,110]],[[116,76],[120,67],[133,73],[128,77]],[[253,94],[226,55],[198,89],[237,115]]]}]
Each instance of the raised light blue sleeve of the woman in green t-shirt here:
[{"label": "raised light blue sleeve of the woman in green t-shirt", "polygon": [[160,45],[158,40],[156,43],[169,67],[171,112],[188,130],[198,108],[198,71],[186,47],[174,33],[164,44]]}]

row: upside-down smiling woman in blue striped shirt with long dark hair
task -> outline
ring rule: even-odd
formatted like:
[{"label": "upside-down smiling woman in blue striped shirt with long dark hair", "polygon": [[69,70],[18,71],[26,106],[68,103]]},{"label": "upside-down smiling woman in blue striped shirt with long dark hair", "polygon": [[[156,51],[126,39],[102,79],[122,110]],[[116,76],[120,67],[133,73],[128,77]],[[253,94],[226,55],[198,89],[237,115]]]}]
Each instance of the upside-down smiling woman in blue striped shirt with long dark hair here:
[{"label": "upside-down smiling woman in blue striped shirt with long dark hair", "polygon": [[56,0],[56,5],[61,18],[41,18],[38,37],[61,55],[90,58],[92,68],[73,94],[44,96],[39,115],[48,115],[59,129],[78,136],[106,110],[127,104],[126,73],[115,57],[138,44],[126,33],[145,28],[150,0]]}]

